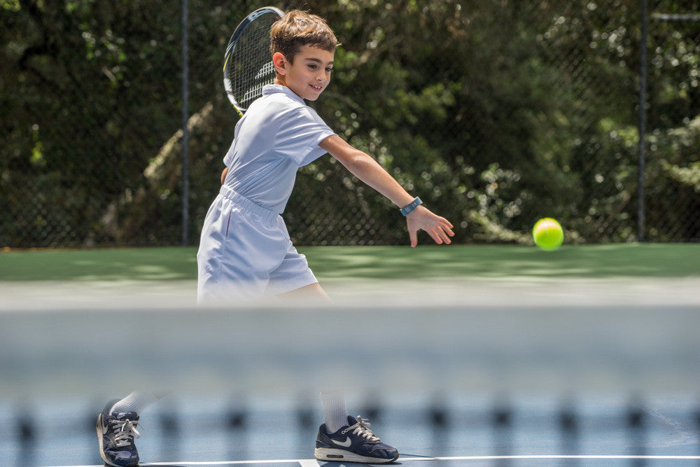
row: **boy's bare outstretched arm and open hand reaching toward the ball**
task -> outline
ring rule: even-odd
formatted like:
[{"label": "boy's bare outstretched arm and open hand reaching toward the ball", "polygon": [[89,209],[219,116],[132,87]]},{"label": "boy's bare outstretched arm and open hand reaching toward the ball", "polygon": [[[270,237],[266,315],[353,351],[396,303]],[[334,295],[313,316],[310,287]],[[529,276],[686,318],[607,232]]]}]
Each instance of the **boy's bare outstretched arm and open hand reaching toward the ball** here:
[{"label": "boy's bare outstretched arm and open hand reaching toward the ball", "polygon": [[[353,148],[344,139],[334,134],[323,141],[324,151],[336,158],[351,174],[386,196],[393,204],[404,207],[413,201],[413,197],[384,170],[379,162],[363,151]],[[454,236],[452,224],[447,219],[433,214],[429,209],[419,206],[406,216],[408,235],[411,246],[418,244],[418,231],[425,230],[437,244],[449,244],[449,237]]]}]

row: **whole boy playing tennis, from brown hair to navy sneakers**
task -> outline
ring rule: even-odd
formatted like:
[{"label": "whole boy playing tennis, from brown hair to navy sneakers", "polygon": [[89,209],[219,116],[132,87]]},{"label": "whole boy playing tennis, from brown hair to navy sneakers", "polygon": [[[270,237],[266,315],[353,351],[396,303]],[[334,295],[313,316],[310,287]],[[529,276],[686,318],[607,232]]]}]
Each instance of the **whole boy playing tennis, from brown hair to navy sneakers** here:
[{"label": "whole boy playing tennis, from brown hair to navy sneakers", "polygon": [[[271,39],[275,84],[264,88],[236,125],[224,158],[221,192],[204,219],[197,253],[200,303],[263,295],[329,300],[306,258],[290,242],[280,216],[297,169],[325,153],[401,208],[411,246],[418,244],[421,229],[437,244],[449,244],[454,235],[446,219],[423,207],[374,159],[347,144],[304,104],[304,99],[318,99],[330,81],[337,39],[325,21],[290,11],[273,25]],[[140,410],[156,399],[132,393],[105,407],[97,429],[104,461],[137,465],[134,424]],[[321,402],[325,424],[316,437],[316,459],[364,463],[398,459],[397,449],[381,442],[366,421],[348,416],[342,391],[321,393]]]}]

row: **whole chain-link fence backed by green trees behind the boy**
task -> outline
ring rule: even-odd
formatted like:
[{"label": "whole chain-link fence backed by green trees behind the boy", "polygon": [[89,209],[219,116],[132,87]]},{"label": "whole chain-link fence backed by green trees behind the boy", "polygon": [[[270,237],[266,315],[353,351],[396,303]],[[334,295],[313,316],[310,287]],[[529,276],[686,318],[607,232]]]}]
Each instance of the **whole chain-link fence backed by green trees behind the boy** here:
[{"label": "whole chain-link fence backed by green trees behind the boy", "polygon": [[[568,242],[696,241],[700,1],[650,3],[640,74],[644,1],[307,1],[343,43],[313,106],[458,242],[529,242],[542,216]],[[224,48],[262,3],[186,5],[183,200],[183,3],[0,0],[0,246],[179,244],[183,218],[196,244],[237,118]],[[284,217],[297,244],[407,242],[330,156]]]}]

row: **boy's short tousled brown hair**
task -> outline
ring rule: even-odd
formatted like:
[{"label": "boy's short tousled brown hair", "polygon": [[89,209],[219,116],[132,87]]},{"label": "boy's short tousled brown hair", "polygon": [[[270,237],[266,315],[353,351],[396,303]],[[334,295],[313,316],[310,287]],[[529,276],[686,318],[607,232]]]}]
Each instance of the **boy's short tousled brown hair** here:
[{"label": "boy's short tousled brown hair", "polygon": [[279,52],[294,62],[294,57],[303,46],[314,46],[335,52],[338,40],[320,16],[305,11],[292,10],[277,20],[270,31],[269,50],[274,55]]}]

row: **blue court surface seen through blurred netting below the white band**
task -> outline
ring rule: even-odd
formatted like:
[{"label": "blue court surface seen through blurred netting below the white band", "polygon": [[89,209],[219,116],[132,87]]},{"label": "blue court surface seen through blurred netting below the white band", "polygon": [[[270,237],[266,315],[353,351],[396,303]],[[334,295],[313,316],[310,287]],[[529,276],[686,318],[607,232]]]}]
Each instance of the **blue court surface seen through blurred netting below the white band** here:
[{"label": "blue court surface seen through blurred netting below the white band", "polygon": [[[700,463],[693,397],[514,397],[496,402],[491,396],[453,394],[435,400],[387,396],[363,405],[349,398],[349,405],[370,414],[374,432],[400,449],[399,465]],[[313,449],[322,421],[319,407],[299,400],[239,402],[160,400],[141,415],[137,446],[142,461],[161,466],[318,465]],[[2,465],[102,465],[94,433],[101,403],[55,399],[22,408],[4,401]]]}]

